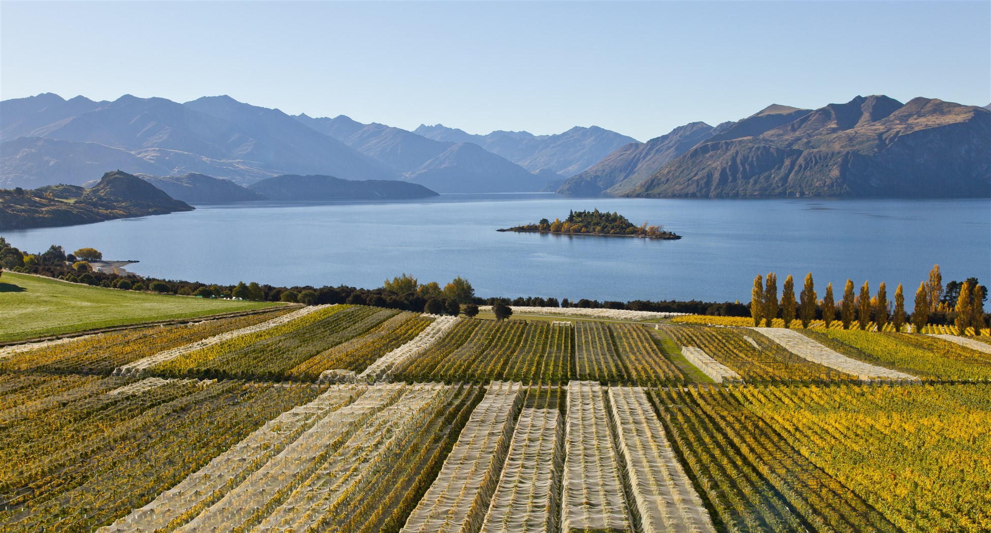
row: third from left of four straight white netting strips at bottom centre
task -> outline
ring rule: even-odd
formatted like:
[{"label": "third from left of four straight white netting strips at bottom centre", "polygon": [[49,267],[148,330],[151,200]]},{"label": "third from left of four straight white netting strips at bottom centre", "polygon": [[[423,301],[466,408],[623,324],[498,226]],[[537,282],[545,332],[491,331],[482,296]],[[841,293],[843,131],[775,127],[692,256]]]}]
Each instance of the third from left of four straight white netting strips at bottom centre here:
[{"label": "third from left of four straight white netting strips at bottom centre", "polygon": [[561,531],[633,531],[606,418],[603,387],[568,383]]}]

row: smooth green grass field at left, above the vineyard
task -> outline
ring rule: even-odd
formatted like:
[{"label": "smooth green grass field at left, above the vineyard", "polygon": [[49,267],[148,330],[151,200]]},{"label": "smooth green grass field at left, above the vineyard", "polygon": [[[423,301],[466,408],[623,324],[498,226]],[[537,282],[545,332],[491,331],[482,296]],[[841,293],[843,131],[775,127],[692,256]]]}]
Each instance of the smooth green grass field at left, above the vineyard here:
[{"label": "smooth green grass field at left, above the vineyard", "polygon": [[279,305],[91,287],[3,272],[0,342]]}]

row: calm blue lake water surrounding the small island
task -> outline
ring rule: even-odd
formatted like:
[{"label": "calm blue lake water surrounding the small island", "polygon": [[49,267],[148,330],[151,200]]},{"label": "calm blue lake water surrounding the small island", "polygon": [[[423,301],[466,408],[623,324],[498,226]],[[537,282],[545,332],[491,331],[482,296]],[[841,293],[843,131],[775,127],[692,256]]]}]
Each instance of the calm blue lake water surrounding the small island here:
[{"label": "calm blue lake water surrounding the small island", "polygon": [[[618,211],[680,241],[497,233]],[[864,279],[908,300],[936,263],[943,280],[991,281],[991,202],[980,200],[575,199],[555,194],[447,194],[404,202],[197,205],[187,213],[4,236],[30,252],[94,247],[133,271],[211,283],[382,286],[408,272],[442,285],[468,278],[481,296],[749,301],[753,276],[812,271]],[[779,280],[779,283],[782,281]],[[801,281],[799,281],[801,283]],[[841,284],[839,285],[842,286]],[[838,292],[837,290],[837,297]]]}]

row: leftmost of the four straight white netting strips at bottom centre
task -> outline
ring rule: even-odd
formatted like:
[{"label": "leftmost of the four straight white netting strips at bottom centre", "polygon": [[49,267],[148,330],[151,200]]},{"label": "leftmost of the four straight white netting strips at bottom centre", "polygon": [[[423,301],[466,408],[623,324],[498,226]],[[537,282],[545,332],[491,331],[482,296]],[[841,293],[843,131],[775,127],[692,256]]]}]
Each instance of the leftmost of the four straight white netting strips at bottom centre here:
[{"label": "leftmost of the four straight white netting strips at bottom centre", "polygon": [[523,395],[515,382],[493,381],[472,411],[437,479],[403,526],[403,533],[481,528],[498,482]]}]

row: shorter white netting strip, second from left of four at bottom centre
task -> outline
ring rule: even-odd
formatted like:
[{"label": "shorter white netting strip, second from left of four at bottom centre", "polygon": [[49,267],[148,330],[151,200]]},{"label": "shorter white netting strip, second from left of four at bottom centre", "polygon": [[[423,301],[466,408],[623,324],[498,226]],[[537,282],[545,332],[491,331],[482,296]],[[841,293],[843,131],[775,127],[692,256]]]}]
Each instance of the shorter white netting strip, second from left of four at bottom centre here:
[{"label": "shorter white netting strip, second from left of four at bottom centre", "polygon": [[523,409],[482,533],[557,531],[563,445],[557,409]]}]

